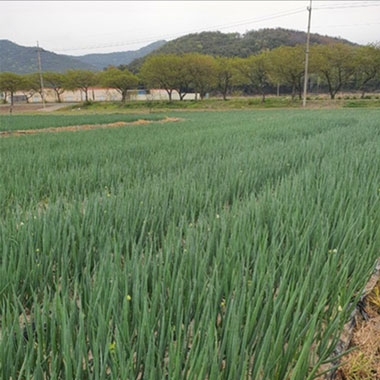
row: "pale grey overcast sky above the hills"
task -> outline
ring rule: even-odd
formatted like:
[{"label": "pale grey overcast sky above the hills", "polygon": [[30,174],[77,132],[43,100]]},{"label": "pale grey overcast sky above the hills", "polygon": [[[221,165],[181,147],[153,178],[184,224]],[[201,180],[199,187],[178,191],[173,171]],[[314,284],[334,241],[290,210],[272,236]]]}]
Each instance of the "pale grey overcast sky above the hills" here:
[{"label": "pale grey overcast sky above the hills", "polygon": [[[0,1],[0,39],[60,54],[137,50],[189,33],[306,31],[309,0]],[[311,32],[380,42],[380,0],[312,2]],[[1,52],[0,52],[1,53]]]}]

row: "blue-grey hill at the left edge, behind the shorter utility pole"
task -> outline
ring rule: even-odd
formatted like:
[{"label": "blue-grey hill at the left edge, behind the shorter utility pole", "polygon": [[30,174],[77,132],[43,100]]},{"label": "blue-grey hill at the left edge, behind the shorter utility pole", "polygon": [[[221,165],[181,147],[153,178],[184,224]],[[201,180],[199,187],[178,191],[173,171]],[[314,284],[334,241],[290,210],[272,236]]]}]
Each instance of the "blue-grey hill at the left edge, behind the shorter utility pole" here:
[{"label": "blue-grey hill at the left edge, behind the shorter utility pole", "polygon": [[[37,47],[25,47],[8,40],[0,40],[0,72],[9,71],[16,74],[38,72]],[[40,48],[43,71],[64,72],[68,69],[96,70],[88,63],[56,54]]]}]

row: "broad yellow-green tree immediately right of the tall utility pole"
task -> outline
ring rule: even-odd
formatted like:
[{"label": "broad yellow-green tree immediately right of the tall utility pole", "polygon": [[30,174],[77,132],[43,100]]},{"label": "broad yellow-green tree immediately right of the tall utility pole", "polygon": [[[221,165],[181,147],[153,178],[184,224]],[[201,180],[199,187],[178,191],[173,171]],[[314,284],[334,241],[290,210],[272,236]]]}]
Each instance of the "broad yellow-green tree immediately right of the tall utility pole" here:
[{"label": "broad yellow-green tree immediately right of the tall utility pole", "polygon": [[331,99],[353,78],[355,48],[343,43],[313,45],[310,48],[310,72],[318,73],[327,84]]}]

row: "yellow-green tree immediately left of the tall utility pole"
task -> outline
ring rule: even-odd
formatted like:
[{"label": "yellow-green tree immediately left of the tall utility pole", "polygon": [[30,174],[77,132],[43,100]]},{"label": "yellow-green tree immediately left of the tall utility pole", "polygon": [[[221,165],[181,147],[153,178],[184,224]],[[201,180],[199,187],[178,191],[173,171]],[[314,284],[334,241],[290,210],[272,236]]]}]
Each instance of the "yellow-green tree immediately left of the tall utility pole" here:
[{"label": "yellow-green tree immediately left of the tall utility pole", "polygon": [[268,59],[271,82],[289,85],[292,88],[292,99],[296,94],[301,99],[305,72],[304,47],[280,46],[268,53]]}]

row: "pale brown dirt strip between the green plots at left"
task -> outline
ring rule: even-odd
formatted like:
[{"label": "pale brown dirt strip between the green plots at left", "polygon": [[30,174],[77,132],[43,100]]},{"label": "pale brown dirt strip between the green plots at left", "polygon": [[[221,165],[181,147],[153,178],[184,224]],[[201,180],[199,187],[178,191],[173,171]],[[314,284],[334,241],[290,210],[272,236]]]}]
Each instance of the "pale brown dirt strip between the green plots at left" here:
[{"label": "pale brown dirt strip between the green plots at left", "polygon": [[125,121],[117,121],[115,123],[108,124],[84,124],[84,125],[71,125],[67,127],[52,127],[52,128],[44,128],[44,129],[24,129],[24,130],[15,130],[15,131],[3,131],[0,132],[1,137],[9,137],[9,136],[23,136],[23,135],[32,135],[36,133],[55,133],[55,132],[76,132],[90,129],[105,129],[105,128],[120,128],[124,126],[132,126],[132,125],[145,125],[152,123],[172,123],[181,121],[182,119],[177,117],[166,117],[162,120],[136,120],[131,122]]}]

